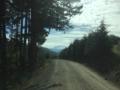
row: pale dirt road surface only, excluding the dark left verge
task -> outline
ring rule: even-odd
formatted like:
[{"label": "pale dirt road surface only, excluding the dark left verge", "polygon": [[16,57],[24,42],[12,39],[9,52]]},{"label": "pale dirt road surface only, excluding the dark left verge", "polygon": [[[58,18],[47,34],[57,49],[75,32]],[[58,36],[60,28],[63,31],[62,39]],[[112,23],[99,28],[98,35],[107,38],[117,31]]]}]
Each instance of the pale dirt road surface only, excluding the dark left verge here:
[{"label": "pale dirt road surface only, excluding the dark left verge", "polygon": [[48,90],[120,90],[87,67],[66,60],[55,60]]}]

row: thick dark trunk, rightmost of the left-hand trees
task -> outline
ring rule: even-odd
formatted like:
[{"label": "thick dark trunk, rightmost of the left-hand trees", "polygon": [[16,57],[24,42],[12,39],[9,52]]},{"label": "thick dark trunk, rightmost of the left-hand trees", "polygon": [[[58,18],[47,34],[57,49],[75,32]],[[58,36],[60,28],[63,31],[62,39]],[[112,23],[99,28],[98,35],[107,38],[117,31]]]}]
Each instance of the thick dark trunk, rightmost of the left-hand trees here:
[{"label": "thick dark trunk, rightmost of the left-hand trees", "polygon": [[29,62],[32,67],[36,62],[37,55],[37,28],[36,28],[36,12],[35,2],[31,1],[31,27],[30,27],[30,44],[29,44]]}]

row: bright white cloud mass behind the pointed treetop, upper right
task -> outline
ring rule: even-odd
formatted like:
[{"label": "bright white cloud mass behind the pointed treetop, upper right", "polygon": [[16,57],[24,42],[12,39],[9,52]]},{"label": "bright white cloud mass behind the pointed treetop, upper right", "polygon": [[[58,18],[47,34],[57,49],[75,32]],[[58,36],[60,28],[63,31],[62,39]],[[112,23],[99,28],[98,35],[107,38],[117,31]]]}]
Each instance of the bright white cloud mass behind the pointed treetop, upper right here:
[{"label": "bright white cloud mass behind the pointed treetop, upper right", "polygon": [[83,13],[72,18],[73,24],[96,26],[105,19],[105,22],[110,25],[110,33],[115,34],[115,30],[120,30],[120,0],[82,0],[82,3],[84,4]]}]

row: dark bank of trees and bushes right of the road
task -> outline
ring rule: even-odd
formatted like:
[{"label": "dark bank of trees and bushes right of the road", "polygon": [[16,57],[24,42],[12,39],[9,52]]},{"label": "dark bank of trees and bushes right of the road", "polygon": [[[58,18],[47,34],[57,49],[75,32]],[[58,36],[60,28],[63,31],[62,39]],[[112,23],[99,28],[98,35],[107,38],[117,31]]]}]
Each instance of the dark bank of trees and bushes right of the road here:
[{"label": "dark bank of trees and bushes right of the road", "polygon": [[60,58],[83,63],[106,79],[120,83],[120,37],[109,35],[104,21],[96,30],[62,50]]}]

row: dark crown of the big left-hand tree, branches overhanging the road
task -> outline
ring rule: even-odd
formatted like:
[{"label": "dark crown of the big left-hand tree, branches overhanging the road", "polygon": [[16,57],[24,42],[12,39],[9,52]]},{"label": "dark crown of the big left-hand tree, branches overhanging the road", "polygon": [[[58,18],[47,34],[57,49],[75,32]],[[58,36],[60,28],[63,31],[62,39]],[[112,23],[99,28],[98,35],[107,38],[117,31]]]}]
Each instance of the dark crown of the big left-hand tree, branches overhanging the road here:
[{"label": "dark crown of the big left-hand tree, branches overhanging the road", "polygon": [[69,0],[32,0],[31,27],[35,37],[46,35],[46,29],[64,30],[69,27],[70,17],[81,13],[82,6],[73,6]]}]

